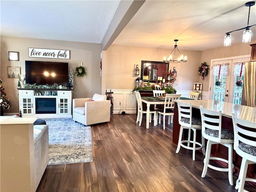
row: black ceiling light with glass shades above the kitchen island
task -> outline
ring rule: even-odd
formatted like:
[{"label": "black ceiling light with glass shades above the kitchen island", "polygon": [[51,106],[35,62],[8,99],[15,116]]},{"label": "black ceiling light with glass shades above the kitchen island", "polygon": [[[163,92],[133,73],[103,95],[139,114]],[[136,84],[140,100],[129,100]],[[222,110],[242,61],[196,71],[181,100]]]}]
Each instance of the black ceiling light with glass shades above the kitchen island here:
[{"label": "black ceiling light with glass shades above the kitchen island", "polygon": [[[243,32],[243,39],[242,39],[243,43],[251,42],[252,31],[250,30],[250,27],[256,25],[256,24],[254,24],[254,25],[249,26],[250,8],[251,8],[251,6],[254,6],[254,5],[255,5],[255,1],[250,1],[245,4],[246,7],[249,7],[247,26],[244,28],[241,28],[241,29],[234,30],[234,31],[239,31],[239,30],[245,29],[245,31]],[[232,36],[230,35],[230,33],[234,32],[234,31],[230,31],[230,32],[226,33],[226,36],[224,37],[224,46],[225,47],[231,46]]]}]

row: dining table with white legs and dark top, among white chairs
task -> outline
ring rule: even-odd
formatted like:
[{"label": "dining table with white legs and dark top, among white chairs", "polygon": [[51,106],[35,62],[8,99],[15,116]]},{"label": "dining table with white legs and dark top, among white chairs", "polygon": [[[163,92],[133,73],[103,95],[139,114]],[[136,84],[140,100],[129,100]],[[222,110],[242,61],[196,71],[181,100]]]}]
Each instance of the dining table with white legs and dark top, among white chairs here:
[{"label": "dining table with white legs and dark top, among white chairs", "polygon": [[[190,98],[186,97],[180,97],[181,100],[192,100]],[[165,97],[154,97],[154,96],[142,96],[141,97],[142,102],[147,104],[147,110],[146,110],[146,128],[149,128],[149,118],[150,118],[150,105],[154,104],[164,104]],[[157,122],[154,122],[154,126],[157,125]]]}]

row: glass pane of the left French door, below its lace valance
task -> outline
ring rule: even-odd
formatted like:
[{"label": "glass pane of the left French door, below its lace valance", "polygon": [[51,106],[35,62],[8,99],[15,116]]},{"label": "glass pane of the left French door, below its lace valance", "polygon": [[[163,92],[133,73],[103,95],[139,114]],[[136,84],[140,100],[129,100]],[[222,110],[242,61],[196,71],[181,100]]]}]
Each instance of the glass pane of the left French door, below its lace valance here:
[{"label": "glass pane of the left French door, below its lace valance", "polygon": [[216,81],[218,81],[218,76],[214,76],[214,87],[213,87],[212,100],[224,101],[225,100],[225,92],[226,92],[227,76],[220,76],[220,78],[219,78],[219,81],[221,82],[220,86],[215,85]]}]

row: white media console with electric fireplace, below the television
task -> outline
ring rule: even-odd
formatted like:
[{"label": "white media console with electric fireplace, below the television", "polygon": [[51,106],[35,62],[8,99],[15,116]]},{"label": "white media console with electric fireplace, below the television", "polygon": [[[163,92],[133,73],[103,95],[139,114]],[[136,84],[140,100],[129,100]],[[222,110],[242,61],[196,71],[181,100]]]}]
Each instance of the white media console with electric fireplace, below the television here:
[{"label": "white media console with electric fireplace, below the television", "polygon": [[72,118],[71,89],[19,90],[19,107],[22,116],[37,118]]}]

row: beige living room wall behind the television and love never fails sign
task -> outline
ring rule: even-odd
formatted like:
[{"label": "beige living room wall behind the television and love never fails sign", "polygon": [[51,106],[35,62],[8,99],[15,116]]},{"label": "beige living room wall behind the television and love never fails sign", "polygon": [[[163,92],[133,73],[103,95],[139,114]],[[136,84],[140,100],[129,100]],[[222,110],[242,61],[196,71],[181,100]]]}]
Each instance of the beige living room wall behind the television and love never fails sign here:
[{"label": "beige living room wall behind the television and love never fails sign", "polygon": [[[70,59],[30,58],[28,57],[28,48],[70,50]],[[9,61],[8,51],[20,52],[20,61]],[[12,103],[11,108],[4,112],[17,113],[19,111],[18,79],[8,78],[7,67],[19,66],[21,74],[25,74],[25,60],[68,62],[69,69],[72,69],[73,72],[78,66],[78,62],[83,62],[88,75],[83,78],[74,75],[73,98],[92,97],[94,93],[101,93],[100,44],[1,36],[0,76],[6,96]]]}]

